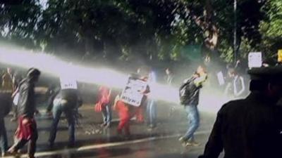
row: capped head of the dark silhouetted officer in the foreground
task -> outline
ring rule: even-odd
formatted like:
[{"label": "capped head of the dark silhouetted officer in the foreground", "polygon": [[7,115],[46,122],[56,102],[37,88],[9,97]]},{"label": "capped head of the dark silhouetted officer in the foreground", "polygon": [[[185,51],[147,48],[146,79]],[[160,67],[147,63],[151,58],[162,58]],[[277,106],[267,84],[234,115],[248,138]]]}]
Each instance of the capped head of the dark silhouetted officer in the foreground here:
[{"label": "capped head of the dark silhouetted officer in the foreground", "polygon": [[250,91],[261,91],[274,100],[282,98],[282,67],[252,68]]}]

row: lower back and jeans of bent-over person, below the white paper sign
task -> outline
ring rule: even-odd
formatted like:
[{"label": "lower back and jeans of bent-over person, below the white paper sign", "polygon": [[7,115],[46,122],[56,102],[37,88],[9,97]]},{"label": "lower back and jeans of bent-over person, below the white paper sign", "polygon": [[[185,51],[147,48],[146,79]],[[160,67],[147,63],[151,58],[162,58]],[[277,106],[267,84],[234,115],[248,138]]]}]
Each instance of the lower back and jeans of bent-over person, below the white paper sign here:
[{"label": "lower back and jeans of bent-over person, below the white paper sign", "polygon": [[76,89],[62,89],[54,99],[53,122],[49,135],[49,147],[54,146],[57,126],[61,114],[64,113],[68,121],[68,147],[75,144],[75,114],[78,108],[78,91]]}]

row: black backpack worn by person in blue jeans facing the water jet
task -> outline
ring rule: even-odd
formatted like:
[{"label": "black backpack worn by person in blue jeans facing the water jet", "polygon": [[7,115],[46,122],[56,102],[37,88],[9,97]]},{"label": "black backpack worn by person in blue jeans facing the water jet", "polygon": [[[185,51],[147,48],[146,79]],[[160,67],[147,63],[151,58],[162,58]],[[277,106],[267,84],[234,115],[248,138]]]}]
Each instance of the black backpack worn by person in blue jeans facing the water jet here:
[{"label": "black backpack worn by person in blue jeans facing the water jet", "polygon": [[190,96],[192,95],[193,91],[195,91],[195,84],[193,83],[194,78],[191,77],[188,79],[188,81],[185,81],[180,88],[179,88],[179,98],[180,98],[180,104],[185,105],[185,103],[188,101]]}]

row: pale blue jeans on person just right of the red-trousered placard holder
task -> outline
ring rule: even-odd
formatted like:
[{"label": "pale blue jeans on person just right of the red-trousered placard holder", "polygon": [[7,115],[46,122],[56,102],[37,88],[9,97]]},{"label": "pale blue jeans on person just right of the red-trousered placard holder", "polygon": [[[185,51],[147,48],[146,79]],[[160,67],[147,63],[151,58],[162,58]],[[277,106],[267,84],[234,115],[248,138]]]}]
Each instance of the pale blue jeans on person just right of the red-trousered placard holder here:
[{"label": "pale blue jeans on person just right of the red-trousered placard holder", "polygon": [[147,102],[147,124],[149,126],[157,126],[157,108],[156,105],[154,104],[154,100],[148,98]]}]

